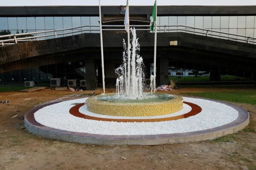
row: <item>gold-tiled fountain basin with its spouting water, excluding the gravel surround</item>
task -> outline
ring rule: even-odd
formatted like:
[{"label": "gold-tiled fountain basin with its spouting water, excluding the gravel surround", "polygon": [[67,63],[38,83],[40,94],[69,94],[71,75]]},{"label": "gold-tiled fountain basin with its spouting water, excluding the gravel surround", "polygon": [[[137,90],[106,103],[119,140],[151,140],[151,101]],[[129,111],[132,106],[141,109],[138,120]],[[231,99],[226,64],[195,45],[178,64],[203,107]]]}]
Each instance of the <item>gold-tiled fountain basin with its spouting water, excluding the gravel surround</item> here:
[{"label": "gold-tiled fountain basin with its spouting water, excluding the gravel surround", "polygon": [[140,56],[135,28],[131,29],[131,33],[131,44],[128,47],[123,40],[123,63],[115,70],[116,94],[102,94],[87,99],[87,110],[111,116],[156,116],[180,111],[183,108],[182,97],[152,93],[153,75],[150,77],[151,93],[143,93],[143,58]]}]

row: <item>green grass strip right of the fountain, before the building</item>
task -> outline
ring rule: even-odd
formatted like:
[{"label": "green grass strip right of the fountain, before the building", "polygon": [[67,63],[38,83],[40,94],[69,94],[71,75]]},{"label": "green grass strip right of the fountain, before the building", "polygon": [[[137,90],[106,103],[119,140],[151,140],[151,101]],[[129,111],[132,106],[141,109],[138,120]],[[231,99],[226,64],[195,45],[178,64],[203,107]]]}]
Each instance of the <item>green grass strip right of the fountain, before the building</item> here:
[{"label": "green grass strip right of the fountain, before the building", "polygon": [[236,91],[210,91],[182,93],[189,96],[200,96],[228,102],[240,102],[256,105],[256,89],[237,89]]}]

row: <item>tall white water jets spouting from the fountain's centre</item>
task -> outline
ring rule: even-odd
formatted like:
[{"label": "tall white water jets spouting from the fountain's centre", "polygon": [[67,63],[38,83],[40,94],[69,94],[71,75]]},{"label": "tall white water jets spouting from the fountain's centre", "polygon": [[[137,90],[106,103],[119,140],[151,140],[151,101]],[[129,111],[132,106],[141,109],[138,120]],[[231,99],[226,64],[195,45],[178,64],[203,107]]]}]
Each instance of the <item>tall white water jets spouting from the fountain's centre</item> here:
[{"label": "tall white water jets spouting from the fountain's centre", "polygon": [[[140,57],[140,44],[136,36],[135,28],[131,29],[132,40],[131,44],[128,44],[130,52],[126,48],[125,40],[124,52],[123,52],[123,63],[119,68],[116,68],[116,95],[126,95],[131,99],[140,99],[143,92],[143,82],[145,75],[143,71],[143,59]],[[129,63],[130,62],[130,63]],[[128,68],[130,65],[130,68]],[[131,73],[130,73],[130,72]],[[130,76],[129,76],[130,75]]]}]

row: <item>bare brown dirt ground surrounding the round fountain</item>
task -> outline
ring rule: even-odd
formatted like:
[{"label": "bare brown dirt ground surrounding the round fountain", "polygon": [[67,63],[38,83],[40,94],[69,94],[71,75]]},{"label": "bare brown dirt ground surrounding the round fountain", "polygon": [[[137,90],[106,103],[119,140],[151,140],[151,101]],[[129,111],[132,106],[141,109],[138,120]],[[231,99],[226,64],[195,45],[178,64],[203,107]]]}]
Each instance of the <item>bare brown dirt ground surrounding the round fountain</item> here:
[{"label": "bare brown dirt ground surrounding the round fountain", "polygon": [[[232,89],[223,89],[230,90]],[[115,90],[108,92],[111,91]],[[171,93],[201,91],[215,89],[182,88]],[[184,144],[79,144],[45,139],[24,129],[26,111],[35,105],[74,93],[78,92],[43,90],[0,93],[0,100],[10,101],[9,104],[0,104],[0,169],[256,170],[255,105],[236,103],[250,113],[250,125],[239,133],[212,141]],[[18,116],[12,118],[15,115]]]}]

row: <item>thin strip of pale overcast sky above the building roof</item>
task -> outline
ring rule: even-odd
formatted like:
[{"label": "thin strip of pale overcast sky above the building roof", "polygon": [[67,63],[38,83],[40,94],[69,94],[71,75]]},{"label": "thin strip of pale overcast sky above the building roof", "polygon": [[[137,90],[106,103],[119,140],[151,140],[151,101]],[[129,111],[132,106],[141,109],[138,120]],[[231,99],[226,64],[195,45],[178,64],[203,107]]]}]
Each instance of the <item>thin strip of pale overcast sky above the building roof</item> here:
[{"label": "thin strip of pale overcast sky above the building roof", "polygon": [[[0,6],[97,6],[99,0],[0,0]],[[101,0],[102,6],[125,5],[126,0]],[[129,0],[130,6],[152,6],[154,0]],[[157,0],[157,5],[253,6],[256,0]]]}]

